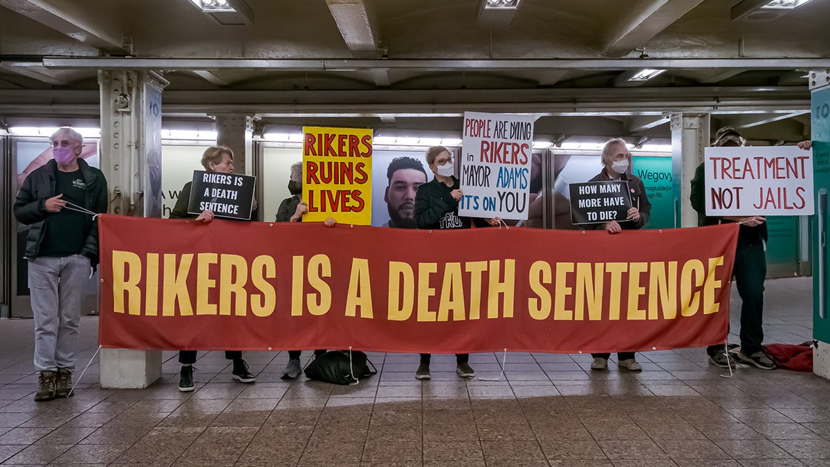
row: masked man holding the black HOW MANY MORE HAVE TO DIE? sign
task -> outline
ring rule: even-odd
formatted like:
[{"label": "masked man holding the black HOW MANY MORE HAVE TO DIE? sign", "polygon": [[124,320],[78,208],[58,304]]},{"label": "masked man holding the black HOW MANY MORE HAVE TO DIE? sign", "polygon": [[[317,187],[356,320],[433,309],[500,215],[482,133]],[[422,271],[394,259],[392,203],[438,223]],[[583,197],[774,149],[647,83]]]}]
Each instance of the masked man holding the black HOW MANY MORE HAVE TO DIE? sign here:
[{"label": "masked man holding the black HOW MANY MORE HAVE TO DIE? sign", "polygon": [[[592,182],[599,181],[624,181],[627,182],[631,194],[632,207],[626,213],[626,219],[621,221],[612,220],[602,224],[609,234],[619,234],[623,230],[640,229],[648,224],[652,212],[652,204],[648,201],[646,189],[642,179],[631,172],[631,153],[625,140],[615,138],[605,143],[603,148],[603,170],[590,179]],[[610,353],[592,353],[593,362],[591,370],[608,369],[608,357]],[[642,366],[637,363],[632,351],[621,351],[617,354],[617,365],[628,371],[642,371]]]}]

